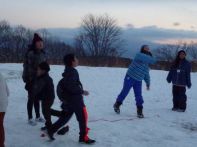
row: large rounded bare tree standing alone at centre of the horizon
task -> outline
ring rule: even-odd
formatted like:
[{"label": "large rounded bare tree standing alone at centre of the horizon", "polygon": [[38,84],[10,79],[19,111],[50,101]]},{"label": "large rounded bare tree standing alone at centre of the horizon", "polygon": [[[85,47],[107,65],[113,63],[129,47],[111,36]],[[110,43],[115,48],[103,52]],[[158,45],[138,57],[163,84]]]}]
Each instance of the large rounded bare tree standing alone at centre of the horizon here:
[{"label": "large rounded bare tree standing alone at centre of the horizon", "polygon": [[89,56],[119,56],[121,29],[108,15],[87,15],[82,20],[82,31],[75,39],[75,46]]}]

